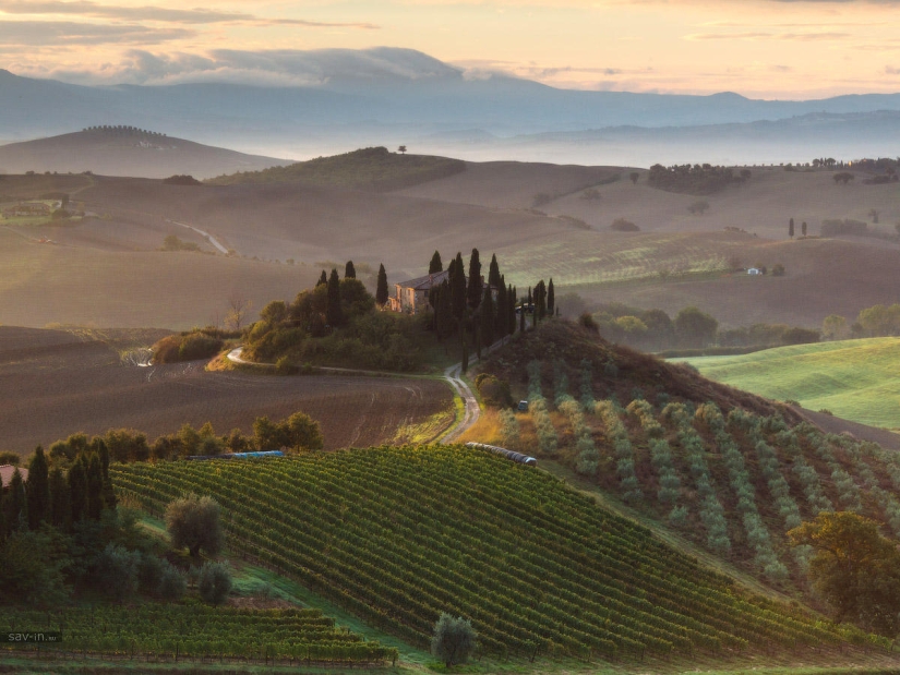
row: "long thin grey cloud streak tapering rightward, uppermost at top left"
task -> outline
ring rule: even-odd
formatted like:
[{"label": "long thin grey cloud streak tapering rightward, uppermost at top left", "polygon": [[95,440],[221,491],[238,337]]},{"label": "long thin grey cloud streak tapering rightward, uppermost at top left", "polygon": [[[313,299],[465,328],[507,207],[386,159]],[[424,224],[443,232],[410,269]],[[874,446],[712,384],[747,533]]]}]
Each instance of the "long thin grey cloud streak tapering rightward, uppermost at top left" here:
[{"label": "long thin grey cloud streak tapering rightward, uppermost at top left", "polygon": [[328,23],[303,19],[266,19],[244,12],[224,12],[204,9],[179,10],[161,7],[122,7],[98,4],[88,0],[0,0],[0,12],[28,15],[75,15],[93,19],[112,19],[131,22],[165,22],[179,24],[238,23],[252,25],[303,26],[309,28],[376,29],[371,23]]}]

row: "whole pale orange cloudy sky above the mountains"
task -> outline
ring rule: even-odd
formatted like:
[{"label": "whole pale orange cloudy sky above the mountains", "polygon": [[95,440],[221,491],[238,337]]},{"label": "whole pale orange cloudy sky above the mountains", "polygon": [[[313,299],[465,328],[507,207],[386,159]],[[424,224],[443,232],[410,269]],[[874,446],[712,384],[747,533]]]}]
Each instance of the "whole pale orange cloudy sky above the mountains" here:
[{"label": "whole pale orange cloudy sky above the mountains", "polygon": [[898,28],[900,0],[0,0],[0,67],[253,82],[262,62],[215,55],[389,46],[567,88],[816,98],[900,91]]}]

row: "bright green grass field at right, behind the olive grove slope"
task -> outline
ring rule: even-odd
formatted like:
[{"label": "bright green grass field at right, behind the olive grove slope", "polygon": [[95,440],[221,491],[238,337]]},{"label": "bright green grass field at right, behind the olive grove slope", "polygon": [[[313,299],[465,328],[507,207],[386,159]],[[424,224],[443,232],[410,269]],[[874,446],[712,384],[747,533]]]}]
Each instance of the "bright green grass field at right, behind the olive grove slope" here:
[{"label": "bright green grass field at right, behind the olive grove slope", "polygon": [[900,429],[900,338],[767,349],[739,357],[685,359],[712,379],[811,410]]}]

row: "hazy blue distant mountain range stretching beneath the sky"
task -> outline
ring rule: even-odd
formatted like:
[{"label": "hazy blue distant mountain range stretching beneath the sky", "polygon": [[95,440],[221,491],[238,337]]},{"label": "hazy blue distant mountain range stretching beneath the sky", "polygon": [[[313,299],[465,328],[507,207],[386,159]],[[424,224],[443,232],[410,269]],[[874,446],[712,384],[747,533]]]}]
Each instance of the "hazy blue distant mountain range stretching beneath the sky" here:
[{"label": "hazy blue distant mountain range stretching beneath the sky", "polygon": [[[770,132],[778,135],[778,129],[756,123],[802,118],[805,121],[791,121],[782,129],[803,128],[811,144],[803,156],[812,157],[828,154],[830,133],[837,131],[852,141],[849,130],[855,126],[859,131],[860,124],[867,124],[866,114],[900,111],[900,94],[790,101],[754,100],[732,93],[684,96],[568,91],[501,74],[472,76],[407,49],[303,53],[309,57],[279,67],[293,77],[286,81],[288,84],[300,83],[292,86],[229,82],[82,86],[0,71],[0,138],[9,142],[98,124],[128,124],[283,157],[403,143],[411,152],[441,148],[464,157],[481,153],[478,158],[488,158],[483,153],[501,157],[493,153],[511,145],[526,154],[525,148],[532,147],[531,159],[550,153],[548,159],[565,160],[571,153],[566,154],[564,146],[584,138],[559,134],[593,130],[595,144],[600,137],[616,143],[652,138],[670,145],[691,138],[703,146],[708,144],[710,126],[754,123],[712,133],[731,138],[748,134],[754,142],[764,138],[778,148],[780,142],[768,141],[775,137]],[[889,154],[888,147],[898,138],[896,121],[872,119],[880,120],[881,133],[889,134],[883,138],[884,152]],[[610,131],[624,125],[628,128]],[[695,131],[684,135],[679,130],[685,126]],[[787,133],[789,137],[793,134]],[[856,146],[839,141],[833,147],[852,156]],[[553,144],[557,147],[551,152]],[[735,162],[747,161],[742,153],[732,153]],[[683,149],[660,153],[671,157],[669,161],[687,154]],[[788,159],[779,156],[771,160]],[[647,161],[600,157],[598,164]]]}]

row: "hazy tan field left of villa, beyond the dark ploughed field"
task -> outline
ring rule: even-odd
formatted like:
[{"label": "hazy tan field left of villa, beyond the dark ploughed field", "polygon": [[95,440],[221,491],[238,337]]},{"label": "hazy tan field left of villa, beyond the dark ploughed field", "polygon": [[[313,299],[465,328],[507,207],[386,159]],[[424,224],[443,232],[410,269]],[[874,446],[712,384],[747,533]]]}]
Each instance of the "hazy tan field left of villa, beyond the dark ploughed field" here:
[{"label": "hazy tan field left of villa, beyond the dark ploughed field", "polygon": [[218,323],[239,292],[259,312],[320,269],[188,252],[40,244],[0,227],[0,324],[187,329]]}]

